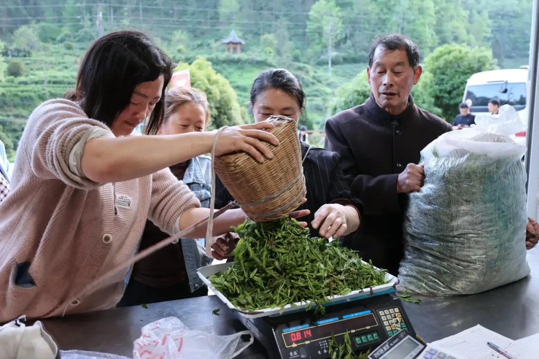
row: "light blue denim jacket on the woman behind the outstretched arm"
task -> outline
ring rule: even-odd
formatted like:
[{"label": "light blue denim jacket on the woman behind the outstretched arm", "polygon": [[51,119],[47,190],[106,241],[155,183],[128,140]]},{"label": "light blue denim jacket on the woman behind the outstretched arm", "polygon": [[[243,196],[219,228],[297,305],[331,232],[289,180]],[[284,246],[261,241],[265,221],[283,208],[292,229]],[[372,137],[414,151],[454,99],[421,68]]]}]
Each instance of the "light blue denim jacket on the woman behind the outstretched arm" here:
[{"label": "light blue denim jacket on the woman behind the outstretched arm", "polygon": [[[204,156],[193,158],[183,176],[183,183],[187,185],[201,201],[201,207],[210,207],[211,197],[211,159]],[[206,256],[204,238],[184,238],[182,244],[185,269],[189,278],[189,287],[194,292],[204,284],[197,275],[197,269],[210,265],[213,258]]]}]

